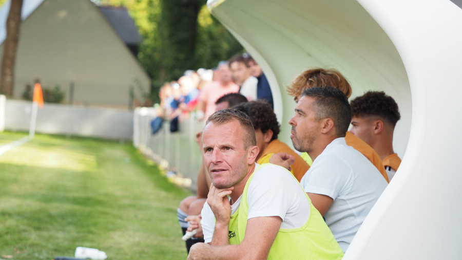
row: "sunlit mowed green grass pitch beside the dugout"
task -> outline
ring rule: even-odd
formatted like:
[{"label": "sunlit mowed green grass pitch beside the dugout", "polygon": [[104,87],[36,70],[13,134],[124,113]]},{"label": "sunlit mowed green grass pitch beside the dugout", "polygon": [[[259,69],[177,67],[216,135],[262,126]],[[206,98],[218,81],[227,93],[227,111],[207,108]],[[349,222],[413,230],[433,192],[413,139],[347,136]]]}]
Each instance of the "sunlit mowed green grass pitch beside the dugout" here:
[{"label": "sunlit mowed green grass pitch beside the dugout", "polygon": [[[26,133],[0,133],[0,145]],[[131,144],[35,135],[0,156],[0,259],[185,259],[176,209],[189,193]]]}]

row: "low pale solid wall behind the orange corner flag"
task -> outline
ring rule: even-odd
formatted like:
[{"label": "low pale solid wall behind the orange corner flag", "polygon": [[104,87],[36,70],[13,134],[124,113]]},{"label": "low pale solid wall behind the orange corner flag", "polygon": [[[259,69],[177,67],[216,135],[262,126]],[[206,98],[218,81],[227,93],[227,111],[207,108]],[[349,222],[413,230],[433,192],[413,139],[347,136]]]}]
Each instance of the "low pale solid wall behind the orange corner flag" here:
[{"label": "low pale solid wall behind the orange corner flag", "polygon": [[[5,129],[29,131],[32,102],[6,101]],[[38,109],[36,133],[129,140],[133,137],[133,112],[45,103]]]}]

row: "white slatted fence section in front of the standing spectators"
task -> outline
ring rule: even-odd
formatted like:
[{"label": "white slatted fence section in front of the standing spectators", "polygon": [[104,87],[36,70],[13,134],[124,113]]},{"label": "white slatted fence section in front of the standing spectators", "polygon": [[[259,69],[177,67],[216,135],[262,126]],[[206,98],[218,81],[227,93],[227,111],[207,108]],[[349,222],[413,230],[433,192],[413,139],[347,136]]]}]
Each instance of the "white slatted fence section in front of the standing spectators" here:
[{"label": "white slatted fence section in front of the standing spectators", "polygon": [[197,174],[202,155],[195,141],[203,123],[190,119],[179,123],[179,131],[170,133],[170,122],[164,121],[161,129],[152,134],[151,121],[156,118],[154,108],[134,110],[133,145],[144,155],[156,161],[161,168],[176,173],[176,181],[192,191],[197,190]]}]

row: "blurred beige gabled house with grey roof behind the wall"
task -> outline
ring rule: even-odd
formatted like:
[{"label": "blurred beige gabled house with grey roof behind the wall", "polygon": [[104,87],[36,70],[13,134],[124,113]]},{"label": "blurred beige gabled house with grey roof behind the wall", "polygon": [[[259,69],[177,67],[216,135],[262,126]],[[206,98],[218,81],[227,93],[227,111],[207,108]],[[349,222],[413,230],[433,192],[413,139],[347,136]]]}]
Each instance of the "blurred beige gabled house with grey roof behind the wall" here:
[{"label": "blurred beige gabled house with grey roof behind the wall", "polygon": [[[0,58],[9,1],[0,8]],[[24,0],[14,98],[40,79],[60,85],[73,103],[127,108],[130,88],[140,100],[151,79],[136,55],[142,38],[124,8],[98,7],[90,0]],[[1,64],[0,64],[1,65]]]}]

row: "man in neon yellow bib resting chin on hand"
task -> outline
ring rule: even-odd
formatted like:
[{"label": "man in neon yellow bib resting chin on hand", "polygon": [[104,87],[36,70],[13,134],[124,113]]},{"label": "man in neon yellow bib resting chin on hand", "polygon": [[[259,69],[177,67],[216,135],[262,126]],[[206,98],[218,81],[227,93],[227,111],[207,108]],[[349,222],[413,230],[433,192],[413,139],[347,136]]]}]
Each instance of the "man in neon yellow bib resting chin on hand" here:
[{"label": "man in neon yellow bib resting chin on hand", "polygon": [[223,109],[211,115],[202,142],[213,183],[202,210],[209,244],[192,246],[188,259],[341,259],[343,252],[292,174],[255,163],[255,130],[244,113]]}]

